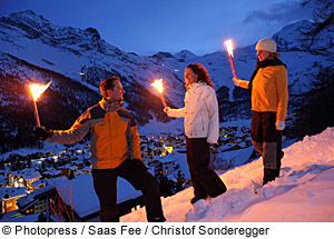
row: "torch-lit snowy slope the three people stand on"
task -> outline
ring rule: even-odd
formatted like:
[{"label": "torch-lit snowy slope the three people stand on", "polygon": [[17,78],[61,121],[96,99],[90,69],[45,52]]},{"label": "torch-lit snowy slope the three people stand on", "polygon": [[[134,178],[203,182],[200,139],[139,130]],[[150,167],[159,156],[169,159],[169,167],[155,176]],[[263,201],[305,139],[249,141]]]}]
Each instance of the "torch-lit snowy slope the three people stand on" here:
[{"label": "torch-lit snowy slope the three people stand on", "polygon": [[[334,128],[306,136],[284,152],[279,178],[262,188],[259,158],[222,173],[228,189],[222,196],[191,206],[193,188],[187,188],[163,199],[167,222],[333,222]],[[146,221],[145,209],[120,220]]]}]

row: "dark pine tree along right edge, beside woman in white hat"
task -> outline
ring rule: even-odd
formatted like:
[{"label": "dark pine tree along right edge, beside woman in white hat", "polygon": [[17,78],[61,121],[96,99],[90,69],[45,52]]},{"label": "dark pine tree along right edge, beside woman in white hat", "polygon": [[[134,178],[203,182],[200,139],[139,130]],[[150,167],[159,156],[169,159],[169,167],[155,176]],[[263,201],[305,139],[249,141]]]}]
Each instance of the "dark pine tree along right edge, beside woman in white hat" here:
[{"label": "dark pine tree along right edge, beside woman in white hat", "polygon": [[[334,47],[334,0],[305,0],[303,6],[312,6],[314,24],[302,32],[306,49],[333,59]],[[326,44],[316,44],[326,42]],[[302,138],[315,135],[334,126],[334,66],[321,68],[312,82],[312,89],[295,99],[295,122],[288,135]]]}]

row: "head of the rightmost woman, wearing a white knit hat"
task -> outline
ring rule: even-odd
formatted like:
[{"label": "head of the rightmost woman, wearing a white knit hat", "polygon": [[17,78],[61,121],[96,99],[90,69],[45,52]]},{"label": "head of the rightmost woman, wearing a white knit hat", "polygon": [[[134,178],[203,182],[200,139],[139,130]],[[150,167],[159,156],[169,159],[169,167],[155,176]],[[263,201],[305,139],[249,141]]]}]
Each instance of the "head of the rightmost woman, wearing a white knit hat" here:
[{"label": "head of the rightmost woman, wearing a white knit hat", "polygon": [[259,40],[255,47],[257,53],[257,58],[259,61],[264,61],[266,59],[278,59],[279,53],[276,52],[277,46],[276,42],[271,38],[264,38]]}]

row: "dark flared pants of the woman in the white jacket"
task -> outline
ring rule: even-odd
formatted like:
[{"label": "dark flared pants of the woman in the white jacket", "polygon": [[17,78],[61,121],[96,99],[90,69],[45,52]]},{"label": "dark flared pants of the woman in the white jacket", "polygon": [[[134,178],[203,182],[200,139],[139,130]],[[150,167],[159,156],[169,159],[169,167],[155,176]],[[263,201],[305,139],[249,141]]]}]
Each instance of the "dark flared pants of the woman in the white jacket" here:
[{"label": "dark flared pants of the woman in the white jacket", "polygon": [[209,168],[209,143],[206,138],[187,138],[187,162],[191,176],[194,195],[197,198],[217,197],[226,186]]}]

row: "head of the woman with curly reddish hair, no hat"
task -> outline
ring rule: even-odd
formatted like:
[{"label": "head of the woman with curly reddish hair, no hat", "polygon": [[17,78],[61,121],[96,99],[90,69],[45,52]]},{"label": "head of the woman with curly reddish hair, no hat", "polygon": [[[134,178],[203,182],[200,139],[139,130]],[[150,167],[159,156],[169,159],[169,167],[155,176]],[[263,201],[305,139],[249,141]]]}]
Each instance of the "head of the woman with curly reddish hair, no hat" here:
[{"label": "head of the woman with curly reddish hair, no hat", "polygon": [[200,63],[190,63],[185,70],[186,86],[193,84],[198,81],[206,82],[208,86],[213,87],[213,82],[208,76],[205,67]]}]

